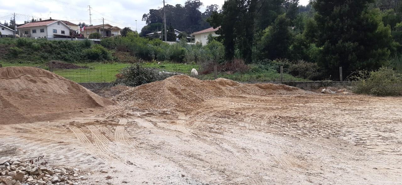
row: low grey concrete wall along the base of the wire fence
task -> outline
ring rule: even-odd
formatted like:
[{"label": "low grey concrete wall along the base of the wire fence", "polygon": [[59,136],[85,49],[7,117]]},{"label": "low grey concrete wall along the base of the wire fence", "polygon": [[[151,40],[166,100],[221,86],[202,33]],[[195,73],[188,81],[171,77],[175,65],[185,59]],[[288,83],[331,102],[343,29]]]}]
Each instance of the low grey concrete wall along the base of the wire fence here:
[{"label": "low grey concrete wall along the base of the wire fence", "polygon": [[[334,82],[334,81],[316,81],[316,82],[240,82],[246,84],[265,84],[265,83],[273,83],[273,84],[285,84],[297,88],[301,88],[303,90],[311,90],[318,89],[320,87],[326,86],[351,86],[353,82]],[[103,88],[106,86],[110,86],[111,83],[78,83],[85,88],[88,89],[97,89]]]}]

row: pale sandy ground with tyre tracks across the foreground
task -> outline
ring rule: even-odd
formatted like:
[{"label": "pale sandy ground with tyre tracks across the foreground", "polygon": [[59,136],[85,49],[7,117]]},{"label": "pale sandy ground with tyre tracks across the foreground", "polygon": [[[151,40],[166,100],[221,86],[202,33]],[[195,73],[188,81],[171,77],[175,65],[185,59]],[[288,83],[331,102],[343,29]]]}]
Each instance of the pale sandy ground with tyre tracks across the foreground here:
[{"label": "pale sandy ground with tyre tracks across the foreground", "polygon": [[49,165],[80,169],[88,178],[80,184],[402,184],[401,97],[250,96],[197,108],[115,106],[0,125],[0,157],[45,155]]}]

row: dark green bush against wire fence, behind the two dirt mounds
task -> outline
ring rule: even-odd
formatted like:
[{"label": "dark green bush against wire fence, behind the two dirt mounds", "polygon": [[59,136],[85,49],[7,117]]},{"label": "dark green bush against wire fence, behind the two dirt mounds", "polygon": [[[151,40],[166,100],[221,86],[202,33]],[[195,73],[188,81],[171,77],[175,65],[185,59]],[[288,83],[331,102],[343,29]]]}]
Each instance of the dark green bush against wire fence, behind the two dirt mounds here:
[{"label": "dark green bush against wire fence, behind the two dirt mounds", "polygon": [[144,68],[137,64],[136,66],[125,67],[121,70],[119,78],[113,84],[123,84],[126,86],[139,86],[151,82],[164,80],[174,74],[159,73],[154,68]]}]

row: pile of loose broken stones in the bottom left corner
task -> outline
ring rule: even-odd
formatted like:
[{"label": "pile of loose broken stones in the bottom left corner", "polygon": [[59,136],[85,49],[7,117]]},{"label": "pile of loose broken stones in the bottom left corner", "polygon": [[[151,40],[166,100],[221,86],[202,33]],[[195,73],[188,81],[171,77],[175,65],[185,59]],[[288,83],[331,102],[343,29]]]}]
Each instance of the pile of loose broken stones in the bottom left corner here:
[{"label": "pile of loose broken stones in the bottom left corner", "polygon": [[78,185],[78,169],[45,167],[17,159],[0,160],[0,185]]}]

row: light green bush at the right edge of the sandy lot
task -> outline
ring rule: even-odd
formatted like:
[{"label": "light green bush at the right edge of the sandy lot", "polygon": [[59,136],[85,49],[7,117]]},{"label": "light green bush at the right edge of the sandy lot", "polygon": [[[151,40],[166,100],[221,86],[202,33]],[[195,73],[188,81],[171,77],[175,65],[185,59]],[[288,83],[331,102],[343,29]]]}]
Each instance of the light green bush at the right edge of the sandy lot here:
[{"label": "light green bush at the right edge of the sandy lot", "polygon": [[354,76],[358,80],[353,87],[353,92],[377,95],[400,96],[402,95],[402,75],[389,67],[381,67],[377,71],[359,71]]}]

